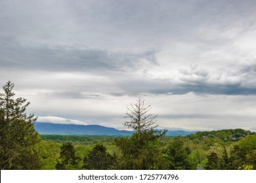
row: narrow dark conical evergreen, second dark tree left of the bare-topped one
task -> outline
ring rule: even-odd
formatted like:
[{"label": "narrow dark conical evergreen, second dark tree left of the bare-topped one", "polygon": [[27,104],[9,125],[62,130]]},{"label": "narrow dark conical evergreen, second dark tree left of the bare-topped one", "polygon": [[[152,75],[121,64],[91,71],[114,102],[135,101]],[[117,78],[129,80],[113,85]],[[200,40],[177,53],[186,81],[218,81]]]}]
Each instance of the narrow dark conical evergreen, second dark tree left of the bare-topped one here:
[{"label": "narrow dark conical evergreen, second dark tree left of the bare-topped one", "polygon": [[58,170],[77,169],[79,159],[75,157],[75,148],[71,142],[62,144],[60,158],[56,164]]}]

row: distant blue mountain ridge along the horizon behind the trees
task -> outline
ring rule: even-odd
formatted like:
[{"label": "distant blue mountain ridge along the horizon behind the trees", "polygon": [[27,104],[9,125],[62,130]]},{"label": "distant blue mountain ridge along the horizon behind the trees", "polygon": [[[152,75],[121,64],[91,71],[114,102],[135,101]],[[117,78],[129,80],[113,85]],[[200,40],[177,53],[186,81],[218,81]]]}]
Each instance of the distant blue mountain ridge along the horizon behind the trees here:
[{"label": "distant blue mountain ridge along the horizon behind the trees", "polygon": [[[106,136],[131,136],[133,131],[118,130],[113,127],[102,125],[74,125],[74,124],[51,124],[35,122],[35,130],[44,135],[106,135]],[[195,132],[174,130],[167,131],[167,136],[189,135]]]}]

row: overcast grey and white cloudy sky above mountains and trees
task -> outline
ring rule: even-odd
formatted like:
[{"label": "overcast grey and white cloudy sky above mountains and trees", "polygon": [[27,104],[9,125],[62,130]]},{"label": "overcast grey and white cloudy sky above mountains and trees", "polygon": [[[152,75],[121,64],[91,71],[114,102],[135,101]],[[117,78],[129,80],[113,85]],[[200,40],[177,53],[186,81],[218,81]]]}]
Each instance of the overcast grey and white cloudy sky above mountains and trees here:
[{"label": "overcast grey and white cloudy sky above mountains and trees", "polygon": [[[0,0],[0,85],[38,122],[256,131],[255,0]],[[3,93],[3,90],[0,90]]]}]

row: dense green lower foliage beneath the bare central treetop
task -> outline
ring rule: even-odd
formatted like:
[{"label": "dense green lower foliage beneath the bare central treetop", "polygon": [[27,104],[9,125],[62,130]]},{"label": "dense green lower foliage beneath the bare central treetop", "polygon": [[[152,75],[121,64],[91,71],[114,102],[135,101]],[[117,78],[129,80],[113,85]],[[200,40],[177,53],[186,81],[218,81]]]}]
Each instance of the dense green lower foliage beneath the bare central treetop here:
[{"label": "dense green lower foliage beneath the bare central treetop", "polygon": [[163,142],[154,130],[133,133],[131,138],[116,139],[116,146],[121,150],[116,169],[166,169],[163,158]]}]

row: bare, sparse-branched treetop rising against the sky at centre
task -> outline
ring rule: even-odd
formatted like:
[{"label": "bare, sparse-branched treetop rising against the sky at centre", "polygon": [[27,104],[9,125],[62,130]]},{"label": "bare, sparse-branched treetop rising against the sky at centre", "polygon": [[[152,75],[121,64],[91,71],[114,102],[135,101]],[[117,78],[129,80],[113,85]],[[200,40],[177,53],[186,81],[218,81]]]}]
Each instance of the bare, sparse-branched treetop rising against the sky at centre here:
[{"label": "bare, sparse-branched treetop rising against the sky at centre", "polygon": [[153,114],[148,114],[148,111],[152,108],[151,105],[145,107],[145,99],[138,98],[135,105],[131,104],[131,107],[127,107],[127,112],[124,118],[130,119],[123,125],[133,128],[138,133],[156,129],[156,116]]}]

